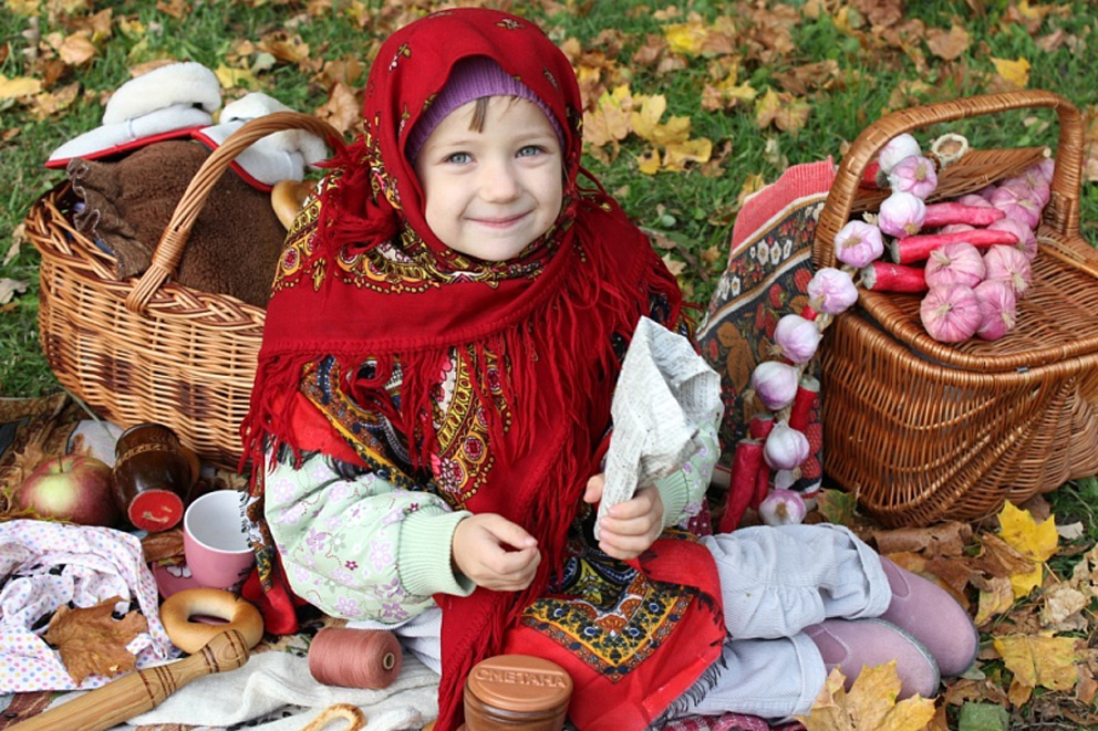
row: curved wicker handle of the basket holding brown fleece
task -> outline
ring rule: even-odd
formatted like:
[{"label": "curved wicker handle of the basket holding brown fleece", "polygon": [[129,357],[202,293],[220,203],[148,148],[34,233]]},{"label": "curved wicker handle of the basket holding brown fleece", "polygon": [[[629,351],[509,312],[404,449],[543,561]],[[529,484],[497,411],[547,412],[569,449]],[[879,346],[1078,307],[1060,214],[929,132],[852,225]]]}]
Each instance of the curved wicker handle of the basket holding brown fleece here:
[{"label": "curved wicker handle of the basket holding brown fleece", "polygon": [[237,155],[247,149],[256,140],[269,134],[283,129],[304,129],[327,140],[336,150],[344,147],[343,136],[332,125],[314,116],[301,112],[273,112],[245,123],[239,129],[215,149],[203,161],[195,173],[190,185],[184,191],[176,205],[172,219],[168,221],[159,243],[153,252],[153,261],[141,275],[137,284],[126,296],[126,309],[131,312],[144,312],[148,301],[169,276],[175,273],[183,257],[183,248],[190,236],[190,229],[198,219],[206,199],[209,198],[214,185],[228,169]]}]

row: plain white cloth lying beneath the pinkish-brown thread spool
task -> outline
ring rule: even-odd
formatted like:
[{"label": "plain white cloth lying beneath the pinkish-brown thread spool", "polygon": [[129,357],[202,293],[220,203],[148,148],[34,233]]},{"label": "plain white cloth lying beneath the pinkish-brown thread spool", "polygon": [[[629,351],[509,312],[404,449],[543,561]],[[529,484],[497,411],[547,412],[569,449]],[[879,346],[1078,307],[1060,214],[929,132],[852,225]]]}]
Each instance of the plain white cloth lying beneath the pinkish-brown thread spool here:
[{"label": "plain white cloth lying beneath the pinkish-brown thread spool", "polygon": [[242,667],[204,676],[116,731],[138,725],[185,723],[215,729],[246,723],[287,707],[308,709],[259,723],[256,731],[299,731],[332,703],[351,703],[366,714],[370,731],[419,729],[438,716],[438,675],[405,655],[400,677],[389,688],[366,690],[317,682],[309,660],[291,652],[253,655]]}]

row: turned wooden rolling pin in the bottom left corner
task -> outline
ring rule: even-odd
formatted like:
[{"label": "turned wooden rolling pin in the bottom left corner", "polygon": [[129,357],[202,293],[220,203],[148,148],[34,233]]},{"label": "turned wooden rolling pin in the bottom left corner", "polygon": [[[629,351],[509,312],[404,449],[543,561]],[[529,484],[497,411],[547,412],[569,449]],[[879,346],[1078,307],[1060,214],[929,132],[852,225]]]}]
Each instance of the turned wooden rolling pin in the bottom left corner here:
[{"label": "turned wooden rolling pin in the bottom left corner", "polygon": [[131,672],[9,731],[103,731],[159,706],[195,678],[236,670],[247,661],[244,636],[229,629],[178,662]]}]

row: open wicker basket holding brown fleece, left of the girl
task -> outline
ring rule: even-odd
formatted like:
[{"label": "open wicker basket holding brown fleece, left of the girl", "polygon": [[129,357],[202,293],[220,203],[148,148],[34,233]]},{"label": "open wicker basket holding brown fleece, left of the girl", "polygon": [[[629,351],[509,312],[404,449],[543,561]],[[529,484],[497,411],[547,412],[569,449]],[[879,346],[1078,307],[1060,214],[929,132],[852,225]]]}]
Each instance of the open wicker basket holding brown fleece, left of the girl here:
[{"label": "open wicker basket holding brown fleece, left of the girl", "polygon": [[42,196],[27,216],[27,233],[42,254],[42,348],[61,385],[114,424],[167,425],[203,458],[232,468],[265,312],[167,280],[217,179],[245,148],[282,129],[343,144],[329,124],[305,114],[249,122],[195,174],[139,279],[115,279],[113,257],[75,229],[68,184]]}]

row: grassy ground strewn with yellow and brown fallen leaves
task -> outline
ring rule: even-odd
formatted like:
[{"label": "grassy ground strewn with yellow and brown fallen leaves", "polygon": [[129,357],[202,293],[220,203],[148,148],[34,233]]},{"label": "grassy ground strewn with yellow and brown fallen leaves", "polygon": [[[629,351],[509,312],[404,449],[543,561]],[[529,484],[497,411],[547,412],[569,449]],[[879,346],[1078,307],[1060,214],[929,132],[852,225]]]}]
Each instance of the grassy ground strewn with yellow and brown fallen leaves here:
[{"label": "grassy ground strewn with yellow and brown fallen leaves", "polygon": [[[1098,239],[1098,11],[1090,1],[484,4],[537,20],[571,59],[587,105],[589,167],[698,302],[712,292],[747,194],[789,165],[838,159],[888,111],[991,91],[1049,90],[1084,113],[1083,234]],[[38,343],[38,254],[20,221],[64,177],[45,170],[43,160],[99,125],[113,90],[159,64],[198,61],[216,72],[225,102],[263,91],[351,135],[380,42],[442,7],[428,0],[6,0],[0,395],[58,387]],[[1054,114],[1025,109],[925,135],[945,130],[993,148],[1055,146],[1057,127]],[[1098,728],[1095,504],[1098,481],[1080,480],[1026,511],[1008,511],[1002,526],[873,533],[838,497],[825,501],[832,520],[858,525],[882,552],[951,586],[984,633],[975,670],[934,706],[936,728]],[[924,710],[913,706],[905,707],[910,713],[881,706],[890,680],[872,681],[873,690],[867,685],[829,701],[849,704],[857,724],[850,712],[836,711],[812,721],[832,725],[816,728],[908,728],[901,722],[921,718]]]}]

